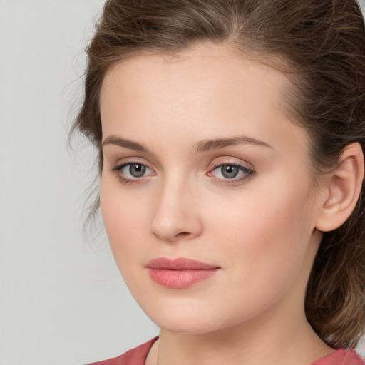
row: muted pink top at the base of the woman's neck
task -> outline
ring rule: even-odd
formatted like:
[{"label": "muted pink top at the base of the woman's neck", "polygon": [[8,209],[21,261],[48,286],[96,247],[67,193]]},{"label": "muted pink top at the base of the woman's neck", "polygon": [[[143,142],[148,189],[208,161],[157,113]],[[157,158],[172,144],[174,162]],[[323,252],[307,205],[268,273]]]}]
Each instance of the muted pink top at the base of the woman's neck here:
[{"label": "muted pink top at the base of the woman's neck", "polygon": [[[158,337],[155,337],[145,344],[135,347],[135,349],[131,349],[113,359],[98,361],[88,365],[145,365],[148,351],[150,351],[157,339]],[[365,365],[365,363],[355,351],[339,349],[323,359],[314,361],[311,365]]]}]

